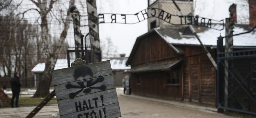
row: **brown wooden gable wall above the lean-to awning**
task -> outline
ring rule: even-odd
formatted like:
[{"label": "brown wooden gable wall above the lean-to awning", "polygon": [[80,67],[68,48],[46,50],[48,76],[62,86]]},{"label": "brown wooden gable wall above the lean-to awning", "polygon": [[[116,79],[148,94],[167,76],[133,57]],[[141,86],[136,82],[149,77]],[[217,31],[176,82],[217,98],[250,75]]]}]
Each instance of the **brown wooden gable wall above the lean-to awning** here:
[{"label": "brown wooden gable wall above the lean-to awning", "polygon": [[163,61],[175,61],[181,59],[166,42],[158,35],[150,35],[140,41],[138,49],[133,57],[131,66],[141,66],[145,63],[159,63]]}]

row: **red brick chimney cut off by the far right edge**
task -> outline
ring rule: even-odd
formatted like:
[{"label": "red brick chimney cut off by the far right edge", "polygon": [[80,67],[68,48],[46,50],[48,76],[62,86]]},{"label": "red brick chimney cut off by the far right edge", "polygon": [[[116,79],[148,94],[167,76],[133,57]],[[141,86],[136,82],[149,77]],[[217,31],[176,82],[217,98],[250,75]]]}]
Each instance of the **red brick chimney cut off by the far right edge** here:
[{"label": "red brick chimney cut off by the far right edge", "polygon": [[249,26],[256,26],[256,0],[249,0]]}]

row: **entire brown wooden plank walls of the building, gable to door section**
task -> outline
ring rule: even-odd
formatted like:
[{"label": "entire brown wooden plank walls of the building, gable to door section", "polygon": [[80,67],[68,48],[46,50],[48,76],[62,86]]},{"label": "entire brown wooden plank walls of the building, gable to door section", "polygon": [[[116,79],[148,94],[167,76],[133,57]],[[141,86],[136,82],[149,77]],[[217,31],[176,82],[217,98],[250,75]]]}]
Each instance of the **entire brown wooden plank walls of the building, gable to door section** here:
[{"label": "entire brown wooden plank walls of the building, gable to door section", "polygon": [[[166,71],[133,73],[131,75],[132,94],[172,100],[216,105],[216,70],[201,46],[176,46],[185,52],[178,55],[158,35],[149,35],[140,41],[131,60],[132,68],[148,63],[161,63],[183,59],[180,85],[165,86]],[[216,52],[208,48],[216,60]],[[136,74],[141,83],[136,84]]]}]

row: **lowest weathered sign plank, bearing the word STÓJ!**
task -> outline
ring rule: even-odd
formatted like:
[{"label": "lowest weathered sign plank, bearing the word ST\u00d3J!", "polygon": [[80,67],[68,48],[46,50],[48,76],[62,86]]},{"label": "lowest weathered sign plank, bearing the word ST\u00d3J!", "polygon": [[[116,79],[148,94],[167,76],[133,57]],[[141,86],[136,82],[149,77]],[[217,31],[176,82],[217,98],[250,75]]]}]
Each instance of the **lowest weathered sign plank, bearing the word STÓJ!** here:
[{"label": "lowest weathered sign plank, bearing the word ST\u00d3J!", "polygon": [[[105,112],[104,112],[105,111]],[[98,107],[93,110],[84,110],[76,113],[66,114],[61,118],[117,118],[121,117],[119,104],[106,105],[104,107]]]}]

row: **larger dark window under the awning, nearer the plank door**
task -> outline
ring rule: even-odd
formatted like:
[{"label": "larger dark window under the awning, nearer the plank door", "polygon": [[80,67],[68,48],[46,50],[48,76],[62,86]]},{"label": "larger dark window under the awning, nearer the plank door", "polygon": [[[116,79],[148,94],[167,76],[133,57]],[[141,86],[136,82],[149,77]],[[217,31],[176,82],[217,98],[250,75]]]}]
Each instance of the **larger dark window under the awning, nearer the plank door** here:
[{"label": "larger dark window under the awning, nearer the plank door", "polygon": [[181,71],[180,70],[172,70],[166,73],[166,84],[180,84]]}]

